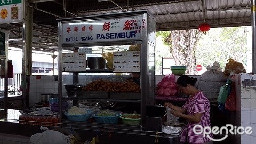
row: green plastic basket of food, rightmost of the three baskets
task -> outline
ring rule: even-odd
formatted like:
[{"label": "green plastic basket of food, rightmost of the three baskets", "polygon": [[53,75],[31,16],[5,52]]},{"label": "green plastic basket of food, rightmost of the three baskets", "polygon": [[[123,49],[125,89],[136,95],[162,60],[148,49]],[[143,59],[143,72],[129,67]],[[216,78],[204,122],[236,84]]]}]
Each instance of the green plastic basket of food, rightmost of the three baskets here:
[{"label": "green plastic basket of food, rightmost of the three baskets", "polygon": [[140,114],[123,114],[120,116],[123,124],[140,125]]}]

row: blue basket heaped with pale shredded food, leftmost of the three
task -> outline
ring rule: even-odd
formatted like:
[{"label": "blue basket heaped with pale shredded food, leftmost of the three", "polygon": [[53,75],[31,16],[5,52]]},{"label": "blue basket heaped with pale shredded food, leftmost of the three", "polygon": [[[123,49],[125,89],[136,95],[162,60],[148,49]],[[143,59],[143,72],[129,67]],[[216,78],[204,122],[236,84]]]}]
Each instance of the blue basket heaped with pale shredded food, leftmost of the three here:
[{"label": "blue basket heaped with pale shredded food, leftmost of the three", "polygon": [[71,107],[71,109],[69,109],[68,112],[65,112],[64,115],[70,121],[85,122],[92,116],[92,113],[90,110],[85,110],[85,109],[74,106],[74,107]]}]

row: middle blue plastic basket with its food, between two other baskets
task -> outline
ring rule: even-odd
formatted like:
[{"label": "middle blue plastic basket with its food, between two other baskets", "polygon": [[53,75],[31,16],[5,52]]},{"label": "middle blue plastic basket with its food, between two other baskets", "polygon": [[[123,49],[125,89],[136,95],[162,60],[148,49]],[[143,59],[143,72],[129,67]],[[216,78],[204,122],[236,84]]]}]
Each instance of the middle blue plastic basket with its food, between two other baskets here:
[{"label": "middle blue plastic basket with its food, between two other baskets", "polygon": [[119,117],[121,113],[115,113],[109,110],[99,111],[98,113],[94,114],[93,117],[95,118],[97,123],[102,124],[116,124],[119,121]]}]

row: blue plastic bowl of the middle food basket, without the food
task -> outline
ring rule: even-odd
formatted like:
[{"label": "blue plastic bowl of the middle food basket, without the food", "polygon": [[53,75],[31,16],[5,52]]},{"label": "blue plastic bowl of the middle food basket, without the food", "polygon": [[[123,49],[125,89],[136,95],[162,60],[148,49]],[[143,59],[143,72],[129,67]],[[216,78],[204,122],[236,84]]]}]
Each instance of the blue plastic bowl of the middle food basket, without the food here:
[{"label": "blue plastic bowl of the middle food basket, without the food", "polygon": [[97,116],[97,114],[94,114],[93,117],[95,118],[97,123],[117,124],[119,121],[119,117],[121,115],[122,115],[121,113],[116,113],[115,116]]}]

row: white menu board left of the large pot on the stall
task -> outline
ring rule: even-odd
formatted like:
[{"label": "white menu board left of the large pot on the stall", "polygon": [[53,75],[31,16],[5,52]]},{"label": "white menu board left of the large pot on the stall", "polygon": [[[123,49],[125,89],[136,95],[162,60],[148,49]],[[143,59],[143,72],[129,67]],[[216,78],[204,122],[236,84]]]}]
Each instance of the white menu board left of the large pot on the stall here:
[{"label": "white menu board left of the large pot on the stall", "polygon": [[85,53],[63,53],[62,62],[62,71],[65,72],[81,72],[86,69]]}]

